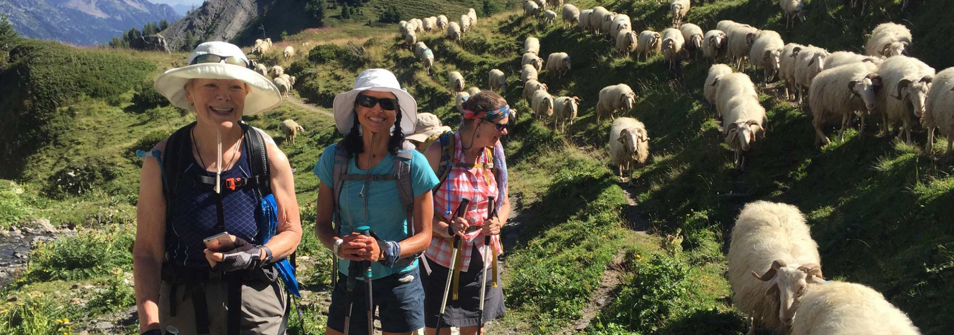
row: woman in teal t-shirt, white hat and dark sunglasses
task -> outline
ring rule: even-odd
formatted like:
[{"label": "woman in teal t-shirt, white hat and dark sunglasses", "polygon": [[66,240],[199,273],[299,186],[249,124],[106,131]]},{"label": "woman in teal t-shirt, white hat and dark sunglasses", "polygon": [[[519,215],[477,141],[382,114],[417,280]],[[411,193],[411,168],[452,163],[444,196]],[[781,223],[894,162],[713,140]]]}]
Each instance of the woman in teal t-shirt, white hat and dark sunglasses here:
[{"label": "woman in teal t-shirt, white hat and dark sunglasses", "polygon": [[[335,124],[345,137],[325,148],[314,168],[321,180],[317,234],[342,259],[335,269],[325,333],[347,329],[351,335],[367,334],[372,325],[368,311],[377,306],[384,334],[410,334],[424,327],[424,288],[414,256],[430,243],[430,189],[437,185],[424,154],[404,140],[414,131],[417,103],[393,73],[367,69],[354,89],[335,97],[334,109]],[[404,196],[402,190],[407,191]],[[360,233],[363,227],[371,236]],[[352,263],[370,266],[371,277],[363,287],[355,287],[359,275]]]}]

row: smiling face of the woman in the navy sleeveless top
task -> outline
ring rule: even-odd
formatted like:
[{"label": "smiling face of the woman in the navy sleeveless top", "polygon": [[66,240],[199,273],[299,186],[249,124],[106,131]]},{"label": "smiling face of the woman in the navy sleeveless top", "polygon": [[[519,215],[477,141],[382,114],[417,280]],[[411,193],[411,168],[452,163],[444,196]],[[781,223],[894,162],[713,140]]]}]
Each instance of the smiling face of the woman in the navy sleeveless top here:
[{"label": "smiling face of the woman in the navy sleeveless top", "polygon": [[197,78],[185,86],[198,122],[221,128],[232,128],[239,121],[248,92],[248,85],[236,79]]}]

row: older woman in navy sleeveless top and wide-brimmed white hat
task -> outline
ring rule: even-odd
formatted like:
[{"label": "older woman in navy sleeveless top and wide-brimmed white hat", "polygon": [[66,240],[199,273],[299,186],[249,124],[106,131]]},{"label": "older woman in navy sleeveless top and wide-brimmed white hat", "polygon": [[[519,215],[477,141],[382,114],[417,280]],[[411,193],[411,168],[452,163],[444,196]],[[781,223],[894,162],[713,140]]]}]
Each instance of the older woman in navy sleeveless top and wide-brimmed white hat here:
[{"label": "older woman in navy sleeveless top and wide-brimmed white hat", "polygon": [[[140,332],[284,333],[287,298],[273,263],[301,241],[295,185],[274,141],[240,122],[278,107],[279,89],[239,47],[206,42],[188,66],[159,75],[156,90],[197,121],[143,163],[133,250]],[[278,232],[262,244],[256,208],[266,194]]]}]

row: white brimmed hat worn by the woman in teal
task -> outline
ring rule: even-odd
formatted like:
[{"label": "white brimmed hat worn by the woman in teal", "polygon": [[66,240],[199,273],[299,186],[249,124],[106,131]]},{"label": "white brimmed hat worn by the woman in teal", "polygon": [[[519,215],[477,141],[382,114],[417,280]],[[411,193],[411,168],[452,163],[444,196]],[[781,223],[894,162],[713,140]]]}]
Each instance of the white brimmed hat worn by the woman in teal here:
[{"label": "white brimmed hat worn by the woman in teal", "polygon": [[[414,132],[414,125],[417,124],[417,101],[398,83],[398,78],[394,73],[386,69],[365,69],[358,74],[355,79],[354,89],[343,92],[335,96],[335,126],[338,131],[347,135],[354,125],[355,118],[355,98],[358,93],[365,90],[386,91],[394,93],[398,98],[398,105],[401,109],[401,132],[408,135]],[[391,131],[394,131],[392,128]]]}]

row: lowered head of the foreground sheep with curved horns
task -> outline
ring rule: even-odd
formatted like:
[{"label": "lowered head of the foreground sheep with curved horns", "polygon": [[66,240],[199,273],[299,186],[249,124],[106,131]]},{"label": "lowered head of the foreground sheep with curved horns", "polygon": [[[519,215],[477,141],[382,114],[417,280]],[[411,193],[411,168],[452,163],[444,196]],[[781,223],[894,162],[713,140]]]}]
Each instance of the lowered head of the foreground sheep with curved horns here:
[{"label": "lowered head of the foreground sheep with curved horns", "polygon": [[808,284],[824,283],[821,266],[804,264],[796,267],[782,260],[773,261],[772,266],[761,276],[754,271],[752,275],[762,282],[768,282],[765,295],[778,294],[778,319],[785,325],[792,325],[797,307],[796,300],[804,293]]}]

